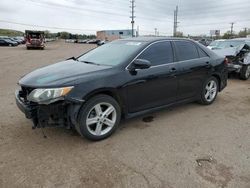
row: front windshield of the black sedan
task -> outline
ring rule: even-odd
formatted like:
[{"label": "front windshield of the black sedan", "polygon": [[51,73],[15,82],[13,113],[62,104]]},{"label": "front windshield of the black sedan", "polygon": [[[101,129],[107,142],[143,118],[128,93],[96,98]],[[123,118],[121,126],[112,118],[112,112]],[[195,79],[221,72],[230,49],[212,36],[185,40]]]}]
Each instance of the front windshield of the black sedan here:
[{"label": "front windshield of the black sedan", "polygon": [[143,42],[115,41],[91,50],[80,56],[78,61],[115,66],[137,52],[142,45]]}]

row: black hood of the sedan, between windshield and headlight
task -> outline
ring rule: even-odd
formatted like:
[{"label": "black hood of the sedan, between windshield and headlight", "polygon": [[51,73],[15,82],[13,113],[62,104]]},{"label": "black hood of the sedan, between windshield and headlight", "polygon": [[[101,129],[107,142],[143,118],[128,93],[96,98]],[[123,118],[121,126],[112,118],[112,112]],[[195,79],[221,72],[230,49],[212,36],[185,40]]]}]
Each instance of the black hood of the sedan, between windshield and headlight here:
[{"label": "black hood of the sedan, between windshield and headlight", "polygon": [[111,68],[110,66],[87,64],[75,60],[66,60],[25,75],[19,81],[21,86],[27,87],[57,87],[67,85],[77,79]]}]

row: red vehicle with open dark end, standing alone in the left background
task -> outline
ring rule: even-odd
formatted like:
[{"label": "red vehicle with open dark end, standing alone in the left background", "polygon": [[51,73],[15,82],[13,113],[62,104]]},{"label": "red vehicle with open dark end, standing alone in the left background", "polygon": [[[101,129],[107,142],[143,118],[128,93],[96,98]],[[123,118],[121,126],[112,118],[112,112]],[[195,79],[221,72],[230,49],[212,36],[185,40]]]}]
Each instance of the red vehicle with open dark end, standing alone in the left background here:
[{"label": "red vehicle with open dark end, standing alone in the left background", "polygon": [[26,48],[45,48],[45,38],[43,31],[30,31],[25,30],[25,38],[26,38]]}]

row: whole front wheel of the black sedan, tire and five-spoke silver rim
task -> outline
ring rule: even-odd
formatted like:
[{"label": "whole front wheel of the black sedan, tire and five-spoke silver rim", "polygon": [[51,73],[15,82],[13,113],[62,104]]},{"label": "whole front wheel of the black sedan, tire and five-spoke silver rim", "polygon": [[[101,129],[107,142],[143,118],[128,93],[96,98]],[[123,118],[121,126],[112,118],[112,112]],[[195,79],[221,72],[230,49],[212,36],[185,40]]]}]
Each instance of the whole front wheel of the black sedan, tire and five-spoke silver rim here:
[{"label": "whole front wheel of the black sedan, tire and five-spoke silver rim", "polygon": [[120,119],[121,110],[116,100],[108,95],[97,95],[82,106],[76,130],[89,140],[102,140],[116,130]]}]

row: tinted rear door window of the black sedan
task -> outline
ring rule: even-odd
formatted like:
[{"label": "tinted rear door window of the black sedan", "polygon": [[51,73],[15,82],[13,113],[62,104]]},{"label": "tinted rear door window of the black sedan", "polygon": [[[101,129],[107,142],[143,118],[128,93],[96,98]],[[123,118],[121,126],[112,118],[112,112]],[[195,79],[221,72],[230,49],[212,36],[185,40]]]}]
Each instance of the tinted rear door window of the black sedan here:
[{"label": "tinted rear door window of the black sedan", "polygon": [[188,41],[175,41],[179,61],[199,58],[196,46]]}]

